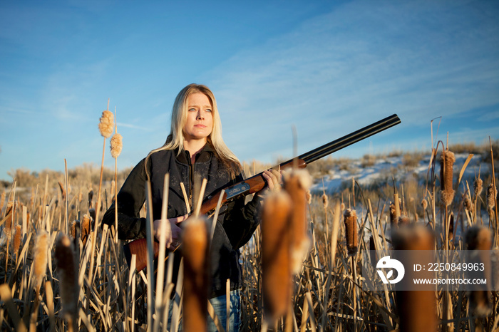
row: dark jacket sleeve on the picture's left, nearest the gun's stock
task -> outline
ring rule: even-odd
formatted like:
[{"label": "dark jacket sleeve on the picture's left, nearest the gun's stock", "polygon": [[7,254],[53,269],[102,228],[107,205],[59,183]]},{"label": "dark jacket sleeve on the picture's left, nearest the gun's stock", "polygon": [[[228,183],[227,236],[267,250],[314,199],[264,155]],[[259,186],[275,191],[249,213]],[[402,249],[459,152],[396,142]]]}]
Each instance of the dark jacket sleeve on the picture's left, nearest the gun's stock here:
[{"label": "dark jacket sleeve on the picture's left, nearest the gun's stock", "polygon": [[[130,172],[125,183],[118,192],[118,238],[140,239],[145,237],[145,218],[139,217],[140,209],[145,202],[146,175],[144,160],[140,161]],[[112,227],[115,224],[115,203],[111,204],[104,214],[103,223]]]}]

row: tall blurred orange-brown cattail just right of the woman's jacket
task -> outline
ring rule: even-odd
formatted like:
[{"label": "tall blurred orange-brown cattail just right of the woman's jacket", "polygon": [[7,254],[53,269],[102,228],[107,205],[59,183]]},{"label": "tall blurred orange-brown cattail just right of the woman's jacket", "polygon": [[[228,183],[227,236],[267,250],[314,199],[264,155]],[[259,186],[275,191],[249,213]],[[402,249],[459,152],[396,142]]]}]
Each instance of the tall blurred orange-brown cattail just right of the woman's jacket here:
[{"label": "tall blurred orange-brown cattail just right of the woman's jacket", "polygon": [[291,301],[292,200],[284,191],[272,192],[262,211],[262,282],[264,310],[269,321],[284,315]]}]

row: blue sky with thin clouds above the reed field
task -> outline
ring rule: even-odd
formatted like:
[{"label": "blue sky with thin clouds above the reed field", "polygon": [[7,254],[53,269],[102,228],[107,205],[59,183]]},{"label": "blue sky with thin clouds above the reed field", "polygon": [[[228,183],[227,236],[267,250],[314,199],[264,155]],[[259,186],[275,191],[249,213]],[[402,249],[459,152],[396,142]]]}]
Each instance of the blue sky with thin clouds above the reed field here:
[{"label": "blue sky with thin clouds above the reed field", "polygon": [[429,150],[440,116],[438,139],[497,140],[498,17],[498,1],[1,1],[0,179],[100,165],[108,98],[118,167],[135,165],[189,83],[214,91],[240,160],[292,157],[293,126],[302,153],[393,113],[336,156]]}]

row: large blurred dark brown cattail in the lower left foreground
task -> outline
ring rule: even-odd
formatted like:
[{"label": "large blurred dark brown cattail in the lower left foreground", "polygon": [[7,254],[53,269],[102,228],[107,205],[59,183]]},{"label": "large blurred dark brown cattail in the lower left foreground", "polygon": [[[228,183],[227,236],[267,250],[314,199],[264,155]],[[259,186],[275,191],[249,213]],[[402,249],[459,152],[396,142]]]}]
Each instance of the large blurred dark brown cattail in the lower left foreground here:
[{"label": "large blurred dark brown cattail in the lower left foreground", "polygon": [[65,234],[56,242],[56,264],[59,276],[59,290],[61,291],[61,302],[63,315],[68,325],[76,326],[78,313],[78,274],[74,256],[73,242]]}]

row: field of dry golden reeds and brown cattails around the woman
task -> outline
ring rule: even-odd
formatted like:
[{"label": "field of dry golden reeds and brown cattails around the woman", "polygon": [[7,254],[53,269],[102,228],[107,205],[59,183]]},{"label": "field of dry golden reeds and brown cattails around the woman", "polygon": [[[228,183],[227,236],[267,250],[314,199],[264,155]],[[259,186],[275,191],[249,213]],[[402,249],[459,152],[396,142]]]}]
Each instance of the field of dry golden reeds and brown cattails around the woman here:
[{"label": "field of dry golden reeds and brown cattails around the woman", "polygon": [[[112,121],[107,125],[103,155],[115,130]],[[369,276],[360,260],[372,249],[498,250],[497,143],[483,152],[489,170],[473,179],[462,177],[468,162],[456,168],[453,152],[438,147],[428,152],[427,176],[410,185],[393,174],[377,187],[345,179],[338,192],[311,193],[309,174],[285,175],[242,249],[242,331],[499,331],[498,291],[362,287]],[[327,173],[328,162],[309,173]],[[245,172],[266,167],[253,162]],[[185,231],[201,251],[185,251],[183,292],[182,282],[173,289],[168,272],[158,272],[165,284],[151,285],[148,271],[129,268],[123,242],[101,225],[127,172],[86,165],[50,178],[14,173],[30,181],[19,176],[1,192],[2,331],[177,331],[182,316],[185,330],[197,331],[206,301],[192,289],[205,285],[206,235]],[[485,264],[499,290],[495,257]]]}]

